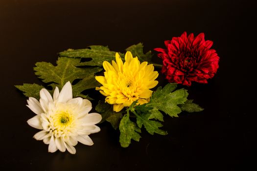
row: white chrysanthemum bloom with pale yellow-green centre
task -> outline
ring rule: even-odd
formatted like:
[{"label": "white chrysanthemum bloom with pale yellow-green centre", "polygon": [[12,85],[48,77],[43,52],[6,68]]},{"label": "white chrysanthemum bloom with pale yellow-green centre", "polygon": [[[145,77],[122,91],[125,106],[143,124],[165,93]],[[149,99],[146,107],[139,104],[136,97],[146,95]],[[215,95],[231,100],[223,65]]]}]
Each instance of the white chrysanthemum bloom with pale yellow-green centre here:
[{"label": "white chrysanthemum bloom with pale yellow-green centre", "polygon": [[53,98],[47,89],[43,88],[39,101],[29,97],[27,103],[27,107],[37,114],[27,123],[33,128],[43,129],[36,133],[34,138],[49,144],[49,152],[64,152],[67,149],[75,154],[73,146],[78,142],[93,145],[88,135],[100,131],[95,124],[99,123],[102,117],[98,113],[88,113],[92,109],[89,100],[80,97],[72,99],[70,82],[63,86],[60,93],[56,87]]}]

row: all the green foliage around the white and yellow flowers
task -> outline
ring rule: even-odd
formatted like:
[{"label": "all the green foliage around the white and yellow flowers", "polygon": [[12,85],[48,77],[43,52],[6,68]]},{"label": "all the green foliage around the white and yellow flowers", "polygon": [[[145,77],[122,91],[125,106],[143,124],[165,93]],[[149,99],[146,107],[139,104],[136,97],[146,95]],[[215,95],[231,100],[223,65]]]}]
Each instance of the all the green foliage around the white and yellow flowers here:
[{"label": "all the green foliage around the white and yellow flowers", "polygon": [[[148,62],[152,64],[151,51],[143,53],[143,44],[138,43],[126,48],[126,51],[131,51],[132,55],[137,56],[140,62]],[[104,61],[111,63],[115,60],[115,51],[110,51],[107,46],[92,45],[85,49],[68,49],[60,52],[60,57],[57,60],[57,65],[51,63],[39,62],[34,67],[35,74],[47,85],[61,89],[63,85],[70,81],[72,83],[72,91],[74,97],[88,98],[83,91],[99,86],[95,80],[95,73],[102,70],[101,67]],[[124,61],[124,54],[119,53]],[[85,62],[81,62],[81,58]],[[154,64],[155,66],[162,66]],[[82,67],[83,66],[83,67]],[[18,89],[23,91],[27,97],[35,97],[39,99],[39,91],[44,88],[37,84],[23,84],[16,85]],[[131,140],[139,141],[141,128],[144,127],[151,135],[154,133],[166,135],[167,132],[160,129],[163,125],[159,122],[164,122],[163,113],[171,117],[178,117],[181,111],[197,112],[202,111],[203,108],[197,104],[192,103],[192,100],[187,100],[187,90],[178,89],[176,84],[167,84],[158,87],[152,93],[150,102],[144,105],[137,106],[134,102],[130,107],[122,109],[119,112],[113,110],[113,106],[99,101],[95,110],[102,115],[102,121],[111,123],[112,127],[119,128],[120,137],[119,142],[121,147],[128,147]],[[51,90],[50,92],[52,92]],[[133,117],[133,118],[132,118]],[[132,118],[130,120],[130,118]]]}]

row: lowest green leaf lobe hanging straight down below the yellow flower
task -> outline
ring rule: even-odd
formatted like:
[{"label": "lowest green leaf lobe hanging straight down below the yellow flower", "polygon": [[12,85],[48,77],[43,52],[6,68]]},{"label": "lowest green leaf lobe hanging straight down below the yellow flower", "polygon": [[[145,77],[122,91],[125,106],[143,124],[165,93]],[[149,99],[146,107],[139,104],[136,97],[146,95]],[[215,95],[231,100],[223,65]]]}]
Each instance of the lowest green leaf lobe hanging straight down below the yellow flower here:
[{"label": "lowest green leaf lobe hanging straight down below the yellow flower", "polygon": [[139,141],[141,136],[138,132],[141,132],[140,128],[134,122],[129,119],[129,113],[125,114],[119,124],[120,136],[119,143],[121,147],[128,147],[131,144],[131,139]]}]

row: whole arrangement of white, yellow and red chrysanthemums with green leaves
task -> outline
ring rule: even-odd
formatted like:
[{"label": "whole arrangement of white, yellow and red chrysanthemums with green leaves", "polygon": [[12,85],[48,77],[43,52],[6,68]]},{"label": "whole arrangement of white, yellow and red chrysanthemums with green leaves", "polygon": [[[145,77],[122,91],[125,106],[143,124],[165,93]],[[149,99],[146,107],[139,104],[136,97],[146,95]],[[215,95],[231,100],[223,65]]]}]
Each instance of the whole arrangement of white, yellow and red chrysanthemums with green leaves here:
[{"label": "whole arrangement of white, yellow and red chrysanthemums with green leaves", "polygon": [[[185,32],[165,41],[165,49],[154,49],[161,52],[158,56],[163,65],[152,62],[151,51],[143,53],[142,43],[126,48],[124,53],[101,45],[68,49],[59,53],[56,66],[36,63],[35,75],[45,86],[16,85],[28,97],[27,107],[36,114],[27,121],[41,130],[34,138],[43,140],[49,152],[67,149],[75,154],[78,142],[93,145],[89,135],[100,131],[95,124],[105,121],[118,129],[124,148],[131,140],[140,140],[142,128],[150,134],[166,135],[161,129],[165,114],[178,117],[182,111],[203,110],[187,99],[186,89],[176,88],[177,84],[207,83],[214,76],[219,57],[211,45],[203,33],[194,37]],[[160,66],[159,73],[155,67]],[[156,88],[159,74],[169,83]],[[88,89],[103,96],[91,97],[85,93]],[[90,100],[98,104],[92,107]],[[95,112],[90,113],[92,108]]]}]

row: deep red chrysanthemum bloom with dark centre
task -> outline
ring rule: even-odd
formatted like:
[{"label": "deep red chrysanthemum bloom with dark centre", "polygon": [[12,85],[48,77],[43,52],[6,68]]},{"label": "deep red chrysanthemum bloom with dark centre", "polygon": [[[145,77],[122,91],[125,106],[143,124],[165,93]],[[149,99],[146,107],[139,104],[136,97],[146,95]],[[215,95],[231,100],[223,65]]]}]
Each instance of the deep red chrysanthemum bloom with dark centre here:
[{"label": "deep red chrysanthemum bloom with dark centre", "polygon": [[204,33],[194,38],[184,32],[181,37],[165,41],[167,49],[155,48],[163,60],[162,73],[170,83],[190,86],[192,81],[207,83],[219,67],[219,57],[210,49],[212,41],[205,41]]}]

